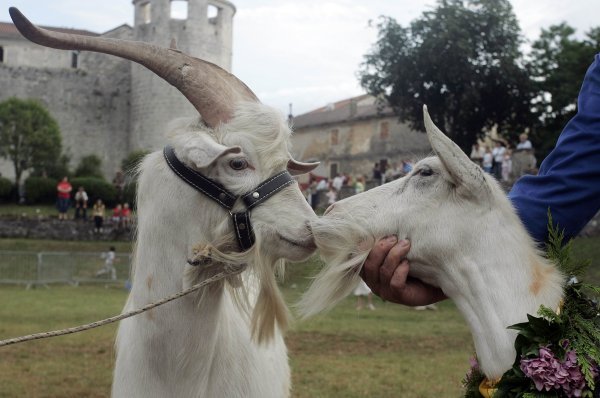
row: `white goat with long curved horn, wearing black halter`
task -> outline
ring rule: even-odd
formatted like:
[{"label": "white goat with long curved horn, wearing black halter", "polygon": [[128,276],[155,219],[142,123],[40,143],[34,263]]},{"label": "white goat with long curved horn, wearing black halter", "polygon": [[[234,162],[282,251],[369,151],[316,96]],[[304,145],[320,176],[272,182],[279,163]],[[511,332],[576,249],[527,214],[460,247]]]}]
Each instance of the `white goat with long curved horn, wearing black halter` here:
[{"label": "white goat with long curved horn, wearing black halter", "polygon": [[292,175],[317,164],[292,159],[287,120],[235,76],[175,43],[161,48],[51,32],[16,8],[10,14],[35,43],[145,66],[184,94],[204,121],[172,123],[164,150],[139,165],[124,311],[220,272],[228,276],[176,304],[121,321],[112,396],[289,397],[283,338],[289,314],[276,270],[316,249],[310,230],[316,215]]}]

